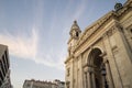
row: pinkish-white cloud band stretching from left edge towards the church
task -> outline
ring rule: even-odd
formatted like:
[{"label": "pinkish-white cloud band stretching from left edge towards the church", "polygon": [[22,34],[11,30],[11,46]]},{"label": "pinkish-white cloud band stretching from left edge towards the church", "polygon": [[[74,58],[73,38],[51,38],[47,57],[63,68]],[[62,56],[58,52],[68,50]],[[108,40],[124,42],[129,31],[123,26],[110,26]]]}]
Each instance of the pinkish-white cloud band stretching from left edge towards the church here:
[{"label": "pinkish-white cloud band stretching from left edge towards the church", "polygon": [[[63,53],[55,55],[54,52],[46,53],[46,51],[37,50],[38,32],[36,29],[32,29],[31,36],[11,35],[8,32],[0,34],[0,43],[9,46],[9,53],[12,56],[31,59],[36,64],[63,69],[63,58],[65,57]],[[38,55],[40,52],[43,52],[43,55]]]}]

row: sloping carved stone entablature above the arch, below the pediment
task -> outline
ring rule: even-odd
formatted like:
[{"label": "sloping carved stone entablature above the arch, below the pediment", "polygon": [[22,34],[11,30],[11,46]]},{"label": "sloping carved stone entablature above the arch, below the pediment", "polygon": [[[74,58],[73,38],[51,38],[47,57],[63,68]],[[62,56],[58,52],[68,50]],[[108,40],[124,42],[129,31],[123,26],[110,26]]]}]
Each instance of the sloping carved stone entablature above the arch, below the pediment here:
[{"label": "sloping carved stone entablature above the arch, below the pediment", "polygon": [[100,30],[92,38],[87,38],[84,44],[81,44],[77,50],[74,51],[74,56],[77,57],[82,54],[85,51],[90,50],[95,46],[98,42],[101,42],[103,38],[108,38],[106,36],[111,36],[113,33],[121,31],[122,26],[117,20],[113,20],[106,25],[103,29]]}]

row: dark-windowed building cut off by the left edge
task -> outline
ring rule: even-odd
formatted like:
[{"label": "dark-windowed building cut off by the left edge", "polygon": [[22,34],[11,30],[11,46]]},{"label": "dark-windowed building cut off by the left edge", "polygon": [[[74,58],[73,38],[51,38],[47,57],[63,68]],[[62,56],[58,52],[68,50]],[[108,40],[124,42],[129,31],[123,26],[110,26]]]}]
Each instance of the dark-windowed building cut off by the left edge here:
[{"label": "dark-windowed building cut off by the left edge", "polygon": [[8,46],[0,44],[0,88],[11,88]]}]

